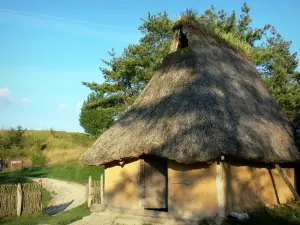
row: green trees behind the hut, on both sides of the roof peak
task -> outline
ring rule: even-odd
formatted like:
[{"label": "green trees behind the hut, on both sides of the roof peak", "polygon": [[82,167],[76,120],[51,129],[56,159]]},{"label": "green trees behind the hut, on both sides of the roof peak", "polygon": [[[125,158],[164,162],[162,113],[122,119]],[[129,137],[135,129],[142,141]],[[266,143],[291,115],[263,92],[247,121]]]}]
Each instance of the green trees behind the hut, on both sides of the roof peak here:
[{"label": "green trees behind the hut, on both sides of the roof peak", "polygon": [[[214,32],[230,34],[238,38],[242,44],[249,46],[251,57],[266,85],[289,118],[292,118],[296,111],[300,111],[297,54],[290,52],[291,42],[285,41],[271,25],[253,28],[250,11],[251,9],[244,3],[239,17],[235,11],[216,12],[214,6],[205,10],[203,14],[193,10],[187,10],[185,14],[208,25]],[[105,82],[103,84],[83,82],[91,89],[92,94],[97,94],[93,100],[84,104],[86,107],[83,107],[80,117],[81,125],[88,133],[86,127],[89,123],[95,123],[93,127],[99,130],[97,133],[99,134],[113,123],[114,118],[120,117],[141,93],[169,52],[174,21],[167,13],[157,15],[149,13],[147,19],[141,20],[143,24],[138,29],[143,37],[139,43],[129,45],[120,57],[116,57],[115,52],[111,51],[110,60],[102,59],[108,67],[100,68]],[[101,94],[98,95],[99,92]],[[103,117],[103,120],[100,117]],[[106,122],[108,120],[110,123]]]}]

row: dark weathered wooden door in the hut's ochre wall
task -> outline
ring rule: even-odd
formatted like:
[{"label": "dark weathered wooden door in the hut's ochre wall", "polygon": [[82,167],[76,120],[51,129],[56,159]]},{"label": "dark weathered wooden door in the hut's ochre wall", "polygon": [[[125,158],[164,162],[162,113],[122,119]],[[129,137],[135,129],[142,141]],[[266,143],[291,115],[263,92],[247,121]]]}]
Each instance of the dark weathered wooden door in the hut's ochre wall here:
[{"label": "dark weathered wooden door in the hut's ochre wall", "polygon": [[145,156],[141,159],[141,188],[145,209],[167,209],[167,160]]}]

